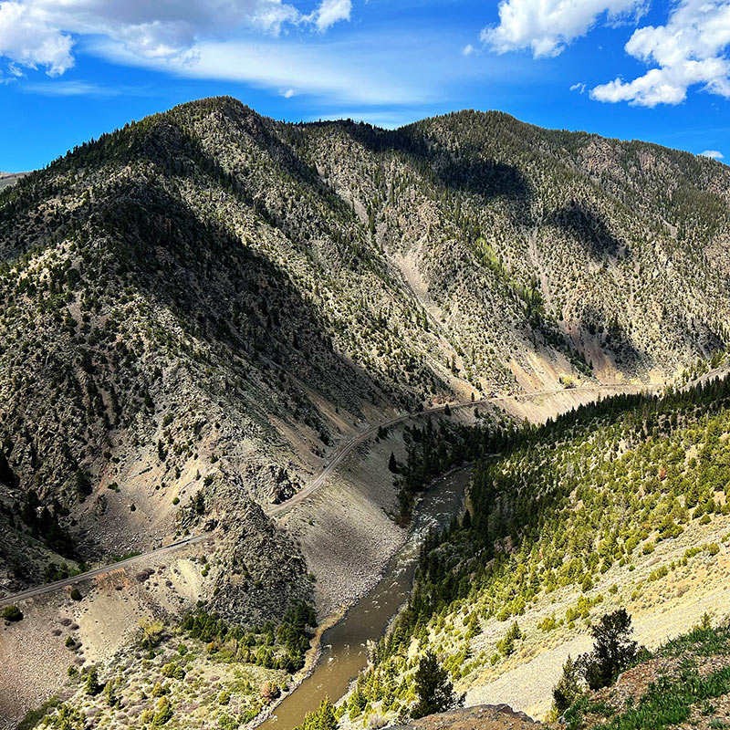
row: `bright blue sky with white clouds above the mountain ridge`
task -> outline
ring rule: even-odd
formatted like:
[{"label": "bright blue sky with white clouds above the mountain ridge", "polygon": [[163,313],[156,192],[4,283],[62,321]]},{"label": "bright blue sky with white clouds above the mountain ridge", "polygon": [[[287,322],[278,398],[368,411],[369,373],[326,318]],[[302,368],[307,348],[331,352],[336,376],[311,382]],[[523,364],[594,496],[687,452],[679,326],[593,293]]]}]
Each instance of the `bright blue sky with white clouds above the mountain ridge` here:
[{"label": "bright blue sky with white clouds above the mountain ridge", "polygon": [[389,127],[504,110],[730,159],[729,50],[730,0],[0,0],[0,171],[218,94]]}]

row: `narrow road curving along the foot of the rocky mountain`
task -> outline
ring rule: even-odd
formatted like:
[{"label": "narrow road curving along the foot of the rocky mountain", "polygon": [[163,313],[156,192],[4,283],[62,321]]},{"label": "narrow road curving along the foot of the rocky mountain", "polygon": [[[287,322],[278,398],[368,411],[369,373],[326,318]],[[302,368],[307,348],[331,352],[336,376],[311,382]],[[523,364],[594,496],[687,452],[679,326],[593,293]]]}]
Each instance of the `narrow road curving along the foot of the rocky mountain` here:
[{"label": "narrow road curving along the foot of the rocky mountain", "polygon": [[[642,388],[646,390],[651,390],[650,386],[642,386]],[[539,396],[543,395],[555,395],[556,393],[564,393],[564,392],[581,392],[581,391],[610,391],[610,390],[626,390],[627,385],[625,384],[613,384],[613,385],[589,385],[589,386],[583,386],[581,388],[573,388],[570,391],[567,391],[564,388],[558,388],[552,391],[536,391],[531,393],[519,393],[518,395],[500,395],[495,396],[494,398],[483,398],[478,401],[467,401],[464,403],[454,403],[449,404],[449,408],[452,411],[458,411],[462,408],[474,408],[474,406],[478,406],[480,404],[484,403],[498,403],[502,401],[521,401],[524,399],[529,398],[537,398]],[[360,444],[365,443],[370,439],[372,436],[374,436],[376,433],[378,433],[378,429],[380,428],[391,428],[391,426],[397,425],[398,423],[402,423],[405,421],[409,421],[414,418],[421,418],[422,416],[427,415],[433,415],[435,413],[441,413],[446,410],[446,406],[437,406],[436,408],[428,408],[423,411],[418,411],[414,413],[405,413],[404,415],[397,416],[396,418],[391,418],[389,421],[383,421],[381,423],[377,423],[374,426],[370,426],[366,431],[363,431],[362,433],[359,433],[357,436],[350,439],[349,442],[344,443],[342,446],[339,447],[338,451],[334,454],[332,459],[329,461],[327,466],[317,475],[315,476],[309,483],[302,489],[300,492],[298,492],[296,495],[294,495],[291,499],[288,499],[287,502],[282,503],[281,505],[270,505],[266,506],[265,512],[268,516],[280,516],[284,513],[288,512],[293,507],[301,504],[305,499],[307,499],[309,496],[313,495],[318,488],[323,485],[330,474],[337,469],[339,464],[342,464],[342,462],[351,454]],[[16,593],[12,596],[7,596],[4,599],[0,599],[0,606],[4,606],[10,603],[15,603],[16,601],[20,600],[26,600],[33,598],[34,596],[41,596],[45,593],[49,593],[53,590],[65,588],[66,586],[72,586],[76,583],[81,583],[84,580],[89,580],[91,578],[95,578],[96,576],[104,575],[105,573],[110,573],[112,570],[117,570],[119,568],[126,568],[133,563],[137,563],[140,561],[145,560],[146,558],[150,558],[151,556],[159,556],[163,553],[172,552],[176,550],[179,547],[183,547],[186,545],[194,545],[199,542],[203,542],[204,540],[210,539],[212,536],[210,533],[204,533],[203,535],[195,535],[191,537],[183,537],[181,540],[177,540],[177,542],[173,542],[171,545],[167,545],[165,547],[158,547],[155,550],[149,550],[146,553],[141,553],[141,555],[134,556],[133,558],[127,558],[125,560],[120,560],[117,563],[112,563],[108,566],[103,566],[102,568],[94,568],[93,570],[88,570],[86,573],[79,573],[78,576],[74,576],[73,578],[69,578],[66,580],[57,580],[53,583],[47,583],[43,586],[37,586],[33,589],[24,590],[22,593]]]}]

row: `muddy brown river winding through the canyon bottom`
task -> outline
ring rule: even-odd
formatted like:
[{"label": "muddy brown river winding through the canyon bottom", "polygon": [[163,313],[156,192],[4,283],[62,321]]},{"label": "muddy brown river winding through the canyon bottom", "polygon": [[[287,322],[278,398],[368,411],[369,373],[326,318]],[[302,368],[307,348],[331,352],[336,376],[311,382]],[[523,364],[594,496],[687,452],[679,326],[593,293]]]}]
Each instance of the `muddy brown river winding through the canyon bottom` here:
[{"label": "muddy brown river winding through the canyon bottom", "polygon": [[367,641],[381,637],[408,599],[423,538],[429,529],[446,527],[454,515],[461,514],[471,474],[471,468],[458,469],[437,479],[423,494],[413,517],[412,535],[391,558],[381,582],[322,634],[322,652],[313,672],[258,726],[261,730],[292,730],[325,697],[336,702],[347,692],[368,662]]}]

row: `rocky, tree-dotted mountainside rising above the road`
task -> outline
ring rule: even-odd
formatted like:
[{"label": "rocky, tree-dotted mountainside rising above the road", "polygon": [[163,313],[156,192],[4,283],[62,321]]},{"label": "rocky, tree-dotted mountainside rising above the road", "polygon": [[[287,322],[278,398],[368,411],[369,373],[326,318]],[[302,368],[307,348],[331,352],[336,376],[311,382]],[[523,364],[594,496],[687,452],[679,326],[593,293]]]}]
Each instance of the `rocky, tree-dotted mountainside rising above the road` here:
[{"label": "rocky, tree-dotted mountainside rising above the road", "polygon": [[259,546],[245,587],[287,561],[284,610],[306,568],[260,506],[363,420],[722,347],[728,183],[495,112],[387,131],[228,98],[29,174],[0,195],[5,587],[207,522]]}]

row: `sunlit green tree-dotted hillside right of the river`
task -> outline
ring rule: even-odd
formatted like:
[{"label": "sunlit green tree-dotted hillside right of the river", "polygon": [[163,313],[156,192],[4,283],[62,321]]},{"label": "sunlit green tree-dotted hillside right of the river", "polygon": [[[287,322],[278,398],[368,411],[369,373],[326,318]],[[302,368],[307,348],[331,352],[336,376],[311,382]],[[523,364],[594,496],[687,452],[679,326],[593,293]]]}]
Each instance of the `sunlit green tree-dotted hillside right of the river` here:
[{"label": "sunlit green tree-dotted hillside right of the river", "polygon": [[[712,597],[728,569],[728,435],[730,379],[485,436],[498,455],[476,467],[464,519],[422,548],[411,600],[351,695],[349,720],[406,714],[428,649],[475,698],[611,606],[637,613],[653,642],[665,637],[662,613],[686,625],[709,605],[724,619]],[[545,694],[549,675],[531,676]]]}]

